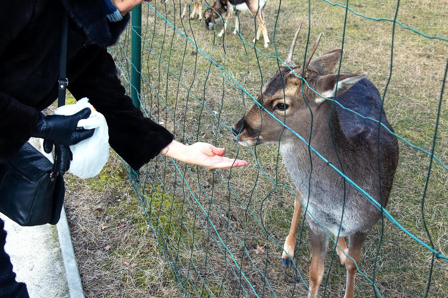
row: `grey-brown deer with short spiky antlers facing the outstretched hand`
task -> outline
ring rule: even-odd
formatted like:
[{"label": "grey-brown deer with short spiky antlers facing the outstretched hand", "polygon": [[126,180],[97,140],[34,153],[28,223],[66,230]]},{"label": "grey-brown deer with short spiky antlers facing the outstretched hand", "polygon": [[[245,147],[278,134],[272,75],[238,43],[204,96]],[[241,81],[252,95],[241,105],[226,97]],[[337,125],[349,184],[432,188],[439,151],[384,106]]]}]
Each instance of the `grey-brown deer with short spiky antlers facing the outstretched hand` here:
[{"label": "grey-brown deer with short spiky antlers facing the outstretched hand", "polygon": [[[298,75],[302,74],[302,66],[297,66],[292,58],[301,25],[297,29],[288,58],[285,60],[285,64]],[[342,105],[361,115],[379,120],[381,114],[381,122],[392,130],[384,110],[381,109],[378,89],[366,79],[365,72],[340,73],[335,97],[337,74],[333,71],[340,61],[342,51],[333,50],[312,59],[320,36],[314,43],[304,67],[304,77],[310,87],[324,97],[335,98]],[[377,164],[378,123],[356,116],[336,104],[331,113],[332,101],[323,99],[303,84],[309,109],[302,96],[302,80],[297,78],[285,64],[263,87],[257,101],[306,140],[310,135],[311,109],[313,113],[311,146],[385,207],[398,164],[396,137],[381,127],[380,187]],[[323,279],[323,263],[329,242],[327,235],[316,222],[318,221],[329,235],[330,233],[335,235],[338,244],[336,252],[340,257],[340,263],[345,264],[347,269],[345,297],[353,298],[356,264],[359,265],[362,244],[381,217],[381,212],[348,183],[344,198],[344,179],[314,153],[311,153],[313,169],[309,186],[311,164],[308,146],[288,129],[285,129],[280,137],[282,130],[283,126],[263,109],[260,112],[256,104],[233,126],[233,131],[238,134],[242,146],[246,146],[246,142],[249,146],[278,143],[280,139],[280,153],[297,187],[297,197],[309,211],[306,213],[306,222],[309,226],[312,258],[308,297],[317,295]],[[332,144],[332,134],[342,167]],[[301,207],[302,204],[295,200],[291,229],[286,237],[282,255],[284,267],[286,264],[291,267],[293,263]],[[341,218],[343,219],[340,227]],[[339,238],[336,238],[338,233]],[[349,248],[345,237],[349,239]],[[356,264],[346,256],[353,258]]]}]

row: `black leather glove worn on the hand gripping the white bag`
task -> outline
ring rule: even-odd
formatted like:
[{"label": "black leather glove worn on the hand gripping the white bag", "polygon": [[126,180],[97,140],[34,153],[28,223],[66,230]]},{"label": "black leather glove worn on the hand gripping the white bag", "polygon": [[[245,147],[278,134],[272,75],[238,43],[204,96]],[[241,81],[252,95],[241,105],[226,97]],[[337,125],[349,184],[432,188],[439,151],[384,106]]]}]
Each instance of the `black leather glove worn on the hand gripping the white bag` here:
[{"label": "black leather glove worn on the hand gripping the white bag", "polygon": [[[44,116],[43,113],[40,113],[37,130],[32,136],[65,146],[78,144],[85,139],[89,139],[95,131],[95,129],[85,130],[82,127],[77,128],[78,121],[87,119],[89,116],[89,108],[82,109],[78,113],[69,116]],[[47,152],[47,150],[45,150],[45,152]]]}]

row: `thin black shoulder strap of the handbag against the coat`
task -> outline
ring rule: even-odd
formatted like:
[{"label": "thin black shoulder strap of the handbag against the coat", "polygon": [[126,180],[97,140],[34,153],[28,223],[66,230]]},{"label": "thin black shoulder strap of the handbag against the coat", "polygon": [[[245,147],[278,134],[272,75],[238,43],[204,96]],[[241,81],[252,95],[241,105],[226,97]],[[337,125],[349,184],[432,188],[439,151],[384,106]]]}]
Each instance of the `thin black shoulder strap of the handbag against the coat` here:
[{"label": "thin black shoulder strap of the handbag against the coat", "polygon": [[67,39],[69,32],[69,15],[64,9],[62,16],[62,38],[60,41],[60,58],[59,58],[59,88],[57,106],[65,105],[65,89],[69,84],[67,79]]}]

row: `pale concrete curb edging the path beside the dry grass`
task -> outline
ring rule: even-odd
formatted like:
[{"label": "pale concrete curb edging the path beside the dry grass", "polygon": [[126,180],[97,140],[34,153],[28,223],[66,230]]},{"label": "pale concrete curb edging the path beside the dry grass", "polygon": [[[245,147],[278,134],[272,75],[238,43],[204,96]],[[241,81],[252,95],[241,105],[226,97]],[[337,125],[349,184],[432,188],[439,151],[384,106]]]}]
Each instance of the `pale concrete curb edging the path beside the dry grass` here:
[{"label": "pale concrete curb edging the path beside the dry grass", "polygon": [[82,291],[81,277],[79,276],[78,263],[73,250],[73,243],[70,237],[69,223],[65,215],[65,208],[62,207],[60,220],[56,224],[57,235],[59,237],[60,252],[64,261],[65,276],[69,286],[70,298],[85,298]]}]

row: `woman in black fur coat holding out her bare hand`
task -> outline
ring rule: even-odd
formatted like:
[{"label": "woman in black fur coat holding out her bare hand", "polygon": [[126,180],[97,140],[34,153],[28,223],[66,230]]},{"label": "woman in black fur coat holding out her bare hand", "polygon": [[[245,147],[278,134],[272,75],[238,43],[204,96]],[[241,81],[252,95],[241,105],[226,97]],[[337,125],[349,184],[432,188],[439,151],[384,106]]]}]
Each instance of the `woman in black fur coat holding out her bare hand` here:
[{"label": "woman in black fur coat holding out her bare hand", "polygon": [[[69,14],[67,88],[106,118],[111,147],[134,169],[159,153],[207,168],[247,162],[223,157],[224,148],[207,143],[185,146],[163,126],[143,117],[125,95],[106,48],[114,44],[142,0],[0,1],[0,163],[39,130],[40,112],[57,97],[59,51],[64,10]],[[40,128],[39,128],[40,127]],[[52,140],[57,141],[57,140]],[[0,219],[0,298],[28,297],[15,281],[4,252],[6,232]]]}]

